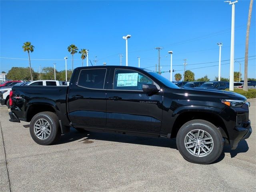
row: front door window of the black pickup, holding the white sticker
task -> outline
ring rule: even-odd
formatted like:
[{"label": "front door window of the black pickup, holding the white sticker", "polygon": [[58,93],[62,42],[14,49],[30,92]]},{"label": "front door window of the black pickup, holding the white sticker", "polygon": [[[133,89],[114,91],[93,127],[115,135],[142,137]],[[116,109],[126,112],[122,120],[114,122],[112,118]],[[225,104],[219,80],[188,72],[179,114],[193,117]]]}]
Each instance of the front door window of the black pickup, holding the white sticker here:
[{"label": "front door window of the black pickup, holding the white sticker", "polygon": [[114,88],[116,90],[142,90],[143,84],[153,84],[145,75],[132,70],[116,70]]}]

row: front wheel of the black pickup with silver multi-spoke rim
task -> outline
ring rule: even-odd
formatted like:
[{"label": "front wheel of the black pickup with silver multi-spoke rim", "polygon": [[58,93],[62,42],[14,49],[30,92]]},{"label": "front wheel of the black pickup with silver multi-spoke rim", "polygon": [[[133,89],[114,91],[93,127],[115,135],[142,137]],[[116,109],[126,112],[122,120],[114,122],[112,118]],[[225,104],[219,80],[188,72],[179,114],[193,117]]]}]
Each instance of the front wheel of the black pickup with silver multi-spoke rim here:
[{"label": "front wheel of the black pickup with silver multi-spoke rim", "polygon": [[[207,148],[204,147],[204,144],[210,143],[207,140],[204,140],[201,137],[198,137],[200,138],[199,140],[196,140],[194,137],[192,137],[196,141],[190,139],[192,136],[190,133],[191,132],[193,133],[194,131],[196,132],[196,130],[201,130],[202,132],[204,132],[204,136],[202,138],[206,137],[207,134],[210,135],[210,137],[208,138],[212,138],[212,139],[208,139],[208,141],[210,140],[210,142],[212,143],[208,145],[208,149],[210,149],[211,151],[207,150]],[[200,133],[201,132],[199,131],[199,136],[200,136]],[[187,135],[190,135],[190,137],[188,137]],[[202,136],[202,133],[201,133],[201,136]],[[185,139],[188,139],[188,140],[185,140]],[[189,142],[193,142],[193,143],[186,145],[185,142],[186,144]],[[183,156],[184,159],[186,159],[189,162],[197,163],[197,164],[210,164],[216,161],[223,150],[223,139],[222,139],[220,130],[218,130],[218,128],[214,126],[214,124],[206,120],[200,120],[200,119],[188,121],[180,128],[177,134],[176,144],[180,154]],[[194,147],[187,149],[186,146],[187,147],[194,146]],[[200,152],[192,154],[190,150],[193,150],[194,152],[195,148],[197,148],[195,150],[197,152],[199,151],[198,148],[200,148]],[[206,153],[203,150],[206,150],[206,152],[209,152],[209,151],[210,152]]]}]

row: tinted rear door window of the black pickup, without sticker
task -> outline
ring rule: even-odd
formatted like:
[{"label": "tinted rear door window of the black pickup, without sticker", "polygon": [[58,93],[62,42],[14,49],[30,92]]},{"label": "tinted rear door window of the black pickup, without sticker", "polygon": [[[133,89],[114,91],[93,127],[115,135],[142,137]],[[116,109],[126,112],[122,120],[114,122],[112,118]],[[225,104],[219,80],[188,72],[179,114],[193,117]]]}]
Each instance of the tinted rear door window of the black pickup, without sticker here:
[{"label": "tinted rear door window of the black pickup, without sticker", "polygon": [[106,69],[84,69],[80,71],[78,86],[92,89],[104,89]]}]

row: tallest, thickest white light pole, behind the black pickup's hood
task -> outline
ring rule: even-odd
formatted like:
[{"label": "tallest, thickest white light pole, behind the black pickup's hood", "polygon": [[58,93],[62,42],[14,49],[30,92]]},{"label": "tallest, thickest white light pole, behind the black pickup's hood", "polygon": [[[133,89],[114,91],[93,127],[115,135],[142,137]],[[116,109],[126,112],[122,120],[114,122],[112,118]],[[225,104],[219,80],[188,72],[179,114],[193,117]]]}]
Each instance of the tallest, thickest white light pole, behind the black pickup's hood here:
[{"label": "tallest, thickest white light pole, behind the black pickup's hood", "polygon": [[224,1],[232,5],[231,17],[231,44],[230,44],[230,74],[229,74],[229,90],[234,91],[234,40],[235,40],[235,3],[238,1]]}]

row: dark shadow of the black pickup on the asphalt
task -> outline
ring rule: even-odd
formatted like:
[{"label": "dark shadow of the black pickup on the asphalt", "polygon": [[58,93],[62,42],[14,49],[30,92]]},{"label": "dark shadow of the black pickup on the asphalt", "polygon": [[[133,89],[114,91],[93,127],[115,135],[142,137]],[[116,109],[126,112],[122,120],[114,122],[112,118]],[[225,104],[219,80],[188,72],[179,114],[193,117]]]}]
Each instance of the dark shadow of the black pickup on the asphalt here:
[{"label": "dark shadow of the black pickup on the asphalt", "polygon": [[[125,134],[112,134],[112,133],[100,133],[100,132],[86,132],[80,133],[74,128],[70,129],[68,134],[62,135],[61,139],[56,144],[64,144],[68,142],[78,141],[83,144],[93,143],[92,140],[102,140],[110,142],[121,142],[129,144],[139,144],[139,145],[148,145],[148,146],[157,146],[157,147],[166,147],[177,149],[176,140],[168,138],[150,138],[150,137],[140,137],[140,136],[130,136]],[[246,140],[239,142],[236,150],[231,150],[230,146],[224,146],[223,152],[220,157],[214,162],[220,162],[225,157],[225,153],[230,153],[231,158],[235,157],[238,153],[245,153],[249,150]]]}]

